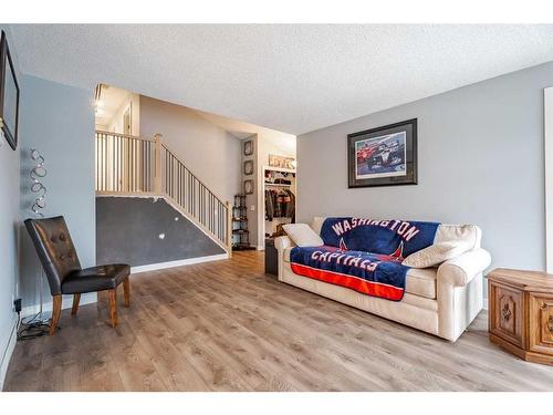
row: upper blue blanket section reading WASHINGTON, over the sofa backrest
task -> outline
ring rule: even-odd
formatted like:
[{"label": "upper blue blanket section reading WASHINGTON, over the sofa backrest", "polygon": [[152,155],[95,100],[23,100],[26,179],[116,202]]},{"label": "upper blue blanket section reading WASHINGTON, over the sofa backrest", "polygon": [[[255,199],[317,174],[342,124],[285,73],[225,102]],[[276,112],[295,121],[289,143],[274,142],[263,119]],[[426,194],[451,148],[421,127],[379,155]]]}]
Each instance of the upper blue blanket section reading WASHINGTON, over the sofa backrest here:
[{"label": "upper blue blanket section reading WASHINGTON, over the sofa backrest", "polygon": [[327,218],[321,228],[324,245],[405,258],[434,243],[438,222]]}]

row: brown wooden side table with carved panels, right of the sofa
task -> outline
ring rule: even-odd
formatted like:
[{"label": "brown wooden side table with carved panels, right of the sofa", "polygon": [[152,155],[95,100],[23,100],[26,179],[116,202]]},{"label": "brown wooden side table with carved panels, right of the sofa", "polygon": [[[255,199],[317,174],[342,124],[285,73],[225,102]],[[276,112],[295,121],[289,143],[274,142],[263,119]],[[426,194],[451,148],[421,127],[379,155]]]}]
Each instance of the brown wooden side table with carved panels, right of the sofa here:
[{"label": "brown wooden side table with carved panels, right of the sofa", "polygon": [[553,365],[553,274],[498,268],[488,274],[490,341]]}]

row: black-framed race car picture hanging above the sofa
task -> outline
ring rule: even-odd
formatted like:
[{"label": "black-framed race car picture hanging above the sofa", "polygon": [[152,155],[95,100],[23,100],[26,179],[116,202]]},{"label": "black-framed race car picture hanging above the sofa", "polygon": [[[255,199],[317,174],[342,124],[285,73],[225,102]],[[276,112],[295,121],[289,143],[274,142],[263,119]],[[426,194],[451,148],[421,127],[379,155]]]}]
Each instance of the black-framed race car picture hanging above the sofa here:
[{"label": "black-framed race car picture hanging above the sofa", "polygon": [[348,187],[417,184],[417,118],[347,135]]}]

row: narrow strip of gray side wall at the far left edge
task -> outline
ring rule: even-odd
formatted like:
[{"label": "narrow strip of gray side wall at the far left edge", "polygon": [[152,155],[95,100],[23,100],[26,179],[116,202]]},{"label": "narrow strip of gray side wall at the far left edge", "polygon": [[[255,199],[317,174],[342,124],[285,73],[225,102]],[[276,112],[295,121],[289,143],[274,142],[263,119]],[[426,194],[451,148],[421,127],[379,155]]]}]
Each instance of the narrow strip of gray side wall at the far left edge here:
[{"label": "narrow strip of gray side wall at the far left edge", "polygon": [[[17,66],[17,51],[13,50],[10,32],[2,24],[0,30],[7,31],[12,59]],[[18,68],[15,70],[22,89],[21,74]],[[12,300],[17,295],[18,279],[19,148],[13,151],[0,133],[0,365],[7,364],[3,362],[4,353],[15,325]],[[2,378],[0,384],[1,382]]]}]

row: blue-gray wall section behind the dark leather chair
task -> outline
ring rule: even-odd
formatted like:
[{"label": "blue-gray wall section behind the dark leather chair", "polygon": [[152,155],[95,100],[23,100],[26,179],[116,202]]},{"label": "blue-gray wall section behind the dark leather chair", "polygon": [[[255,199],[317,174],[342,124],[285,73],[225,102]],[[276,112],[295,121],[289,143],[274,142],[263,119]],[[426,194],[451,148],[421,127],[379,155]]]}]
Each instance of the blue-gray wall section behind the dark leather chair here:
[{"label": "blue-gray wall section behind the dark leather chair", "polygon": [[[44,215],[65,217],[81,264],[94,266],[93,92],[27,75],[22,81],[27,98],[21,106],[21,219],[33,215],[29,173],[33,167],[30,148],[35,147],[43,154],[48,170],[42,180],[48,188]],[[38,301],[41,267],[23,226],[20,232],[20,295],[23,307],[28,307]],[[51,302],[48,283],[45,286],[45,302]]]}]

